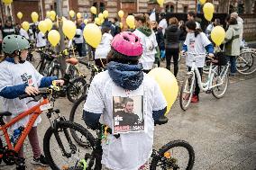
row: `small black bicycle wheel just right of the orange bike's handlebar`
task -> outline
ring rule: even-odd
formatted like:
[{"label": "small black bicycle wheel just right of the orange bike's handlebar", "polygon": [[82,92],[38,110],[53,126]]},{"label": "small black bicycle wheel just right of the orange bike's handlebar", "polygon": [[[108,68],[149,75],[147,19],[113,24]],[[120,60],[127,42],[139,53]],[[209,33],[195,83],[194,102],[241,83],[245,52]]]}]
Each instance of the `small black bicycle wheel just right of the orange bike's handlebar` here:
[{"label": "small black bicycle wheel just right of the orange bike's handlebar", "polygon": [[78,77],[70,82],[67,89],[67,97],[71,103],[76,102],[87,91],[87,81]]}]

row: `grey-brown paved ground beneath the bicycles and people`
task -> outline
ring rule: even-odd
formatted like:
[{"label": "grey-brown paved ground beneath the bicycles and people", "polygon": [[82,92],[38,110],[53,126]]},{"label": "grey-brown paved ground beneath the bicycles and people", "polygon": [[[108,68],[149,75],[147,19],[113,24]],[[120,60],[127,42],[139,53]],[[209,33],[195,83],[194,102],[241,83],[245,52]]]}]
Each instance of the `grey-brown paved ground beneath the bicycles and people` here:
[{"label": "grey-brown paved ground beneath the bicycles and people", "polygon": [[[181,61],[178,74],[179,84],[186,72]],[[157,126],[155,148],[170,140],[187,140],[195,149],[196,170],[255,170],[256,169],[256,74],[235,76],[223,99],[215,99],[212,94],[200,94],[200,103],[192,104],[183,112],[177,102],[169,113],[169,123]],[[59,99],[55,107],[68,116],[72,103]],[[42,115],[40,126],[41,145],[49,121]],[[25,144],[28,169],[32,166],[32,151]],[[14,169],[0,166],[0,169]]]}]

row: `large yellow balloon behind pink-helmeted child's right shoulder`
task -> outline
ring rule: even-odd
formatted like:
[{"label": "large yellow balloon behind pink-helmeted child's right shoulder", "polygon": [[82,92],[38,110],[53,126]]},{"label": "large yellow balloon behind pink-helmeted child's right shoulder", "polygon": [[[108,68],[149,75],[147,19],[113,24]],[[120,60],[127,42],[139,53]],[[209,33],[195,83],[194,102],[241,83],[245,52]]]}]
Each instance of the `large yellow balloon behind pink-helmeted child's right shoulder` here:
[{"label": "large yellow balloon behind pink-helmeted child's right shoulder", "polygon": [[178,96],[178,82],[176,77],[168,69],[163,67],[152,69],[149,76],[153,77],[160,86],[160,90],[167,102],[167,112],[165,114],[169,113],[172,104]]}]

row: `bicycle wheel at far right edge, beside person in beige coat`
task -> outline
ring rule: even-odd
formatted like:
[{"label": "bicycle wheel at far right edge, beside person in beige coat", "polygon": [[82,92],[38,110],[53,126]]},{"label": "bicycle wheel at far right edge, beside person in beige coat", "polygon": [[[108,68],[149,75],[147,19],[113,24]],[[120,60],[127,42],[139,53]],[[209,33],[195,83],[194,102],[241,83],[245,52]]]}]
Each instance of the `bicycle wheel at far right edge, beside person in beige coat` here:
[{"label": "bicycle wheel at far right edge, beside person in beige coat", "polygon": [[253,67],[253,58],[256,53],[253,51],[244,51],[236,58],[236,69],[242,75],[250,75],[256,70]]}]

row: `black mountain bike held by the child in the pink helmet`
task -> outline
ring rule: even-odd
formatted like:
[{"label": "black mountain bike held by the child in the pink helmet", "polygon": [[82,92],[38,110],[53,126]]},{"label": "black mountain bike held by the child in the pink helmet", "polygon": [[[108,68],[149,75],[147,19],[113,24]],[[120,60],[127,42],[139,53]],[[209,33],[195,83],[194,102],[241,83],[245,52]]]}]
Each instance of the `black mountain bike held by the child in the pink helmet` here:
[{"label": "black mountain bike held by the child in the pink helmet", "polygon": [[[79,161],[75,166],[66,166],[65,170],[100,170],[102,148],[101,142],[105,139],[106,134],[111,134],[111,130],[102,125],[100,130],[96,130],[96,139],[87,130],[87,142],[88,148],[92,150],[87,151],[84,156],[81,156]],[[117,137],[116,137],[117,138]],[[46,156],[49,156],[48,154]],[[54,170],[60,170],[63,166],[58,166],[55,161],[53,161],[52,156],[46,157],[50,167]],[[184,140],[174,140],[170,141],[168,144],[161,147],[159,150],[152,150],[150,169],[186,169],[191,170],[195,162],[195,152],[194,149]],[[62,168],[63,169],[63,168]]]}]

